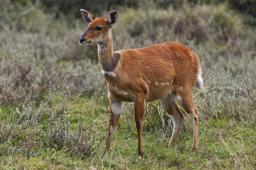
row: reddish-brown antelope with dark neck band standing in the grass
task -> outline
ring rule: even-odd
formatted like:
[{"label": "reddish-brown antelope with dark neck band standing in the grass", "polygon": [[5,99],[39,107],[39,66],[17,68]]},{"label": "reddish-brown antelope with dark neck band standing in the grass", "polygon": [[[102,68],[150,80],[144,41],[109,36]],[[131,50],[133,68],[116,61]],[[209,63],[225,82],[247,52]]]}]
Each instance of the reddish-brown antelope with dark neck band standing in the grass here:
[{"label": "reddish-brown antelope with dark neck band standing in the grass", "polygon": [[193,149],[197,149],[198,111],[193,103],[192,90],[204,90],[198,56],[182,44],[164,42],[140,49],[113,52],[111,28],[117,23],[117,12],[97,18],[81,9],[88,28],[79,38],[81,44],[97,44],[98,59],[110,100],[109,133],[106,152],[109,152],[113,133],[122,112],[122,101],[134,102],[138,133],[138,158],[142,151],[142,124],[145,102],[159,99],[173,120],[173,133],[168,148],[172,148],[184,116],[176,100],[190,115],[193,123]]}]

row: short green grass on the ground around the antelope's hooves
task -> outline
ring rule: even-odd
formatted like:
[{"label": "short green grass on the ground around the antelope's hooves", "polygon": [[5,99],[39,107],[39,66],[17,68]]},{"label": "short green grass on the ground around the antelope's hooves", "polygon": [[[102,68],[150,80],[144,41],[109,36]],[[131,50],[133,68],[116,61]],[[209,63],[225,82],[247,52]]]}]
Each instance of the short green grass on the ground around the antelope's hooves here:
[{"label": "short green grass on the ground around the antelope's hooves", "polygon": [[[59,97],[57,96],[57,98]],[[58,103],[58,100],[56,102]],[[101,108],[97,109],[97,113],[95,112],[95,115],[98,116],[88,117],[85,116],[87,113],[82,110],[87,110],[88,112],[95,110],[89,104],[91,100],[86,98],[68,100],[66,116],[69,117],[71,129],[77,129],[79,117],[82,116],[85,118],[83,124],[88,125],[94,122],[93,133],[97,139],[98,134],[106,134],[108,114],[102,106],[102,102],[103,98],[95,105],[95,107]],[[155,104],[157,105],[157,103]],[[128,105],[128,109],[131,109],[130,105]],[[186,116],[186,118],[188,117]],[[145,124],[147,122],[144,121],[144,126]],[[128,126],[130,126],[130,129]],[[84,159],[71,155],[70,152],[72,150],[65,147],[57,150],[46,147],[45,150],[37,150],[34,156],[30,155],[29,157],[24,156],[23,153],[13,155],[12,150],[9,150],[7,154],[1,156],[1,168],[253,169],[255,165],[256,132],[255,127],[250,124],[238,123],[236,120],[227,119],[225,116],[215,119],[199,119],[197,152],[192,151],[193,130],[190,119],[184,119],[175,147],[169,151],[167,146],[171,130],[172,127],[169,128],[168,126],[163,129],[158,128],[157,131],[153,128],[144,127],[143,146],[145,147],[143,147],[143,158],[138,160],[136,154],[138,145],[137,130],[133,120],[133,113],[128,114],[128,119],[123,113],[113,136],[113,145],[109,155],[103,155],[104,142],[100,144],[92,156]],[[98,142],[97,139],[95,144]],[[16,138],[15,140],[21,139]],[[7,144],[2,143],[0,150],[7,149],[4,147]]]}]

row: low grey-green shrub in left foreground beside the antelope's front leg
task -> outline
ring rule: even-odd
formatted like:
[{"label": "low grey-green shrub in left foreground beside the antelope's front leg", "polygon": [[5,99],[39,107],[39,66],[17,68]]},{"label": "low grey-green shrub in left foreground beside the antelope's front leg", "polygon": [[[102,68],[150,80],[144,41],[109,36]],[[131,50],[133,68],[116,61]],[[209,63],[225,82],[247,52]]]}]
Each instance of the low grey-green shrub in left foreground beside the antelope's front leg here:
[{"label": "low grey-green shrub in left foreground beside the antelope's front leg", "polygon": [[[64,106],[65,101],[64,98]],[[29,158],[41,155],[49,149],[53,152],[64,149],[69,155],[81,158],[95,154],[99,144],[105,140],[105,136],[97,134],[99,139],[96,144],[93,124],[84,130],[82,118],[80,118],[78,130],[73,132],[68,118],[57,119],[65,114],[64,106],[54,109],[49,103],[41,103],[34,110],[33,105],[24,106],[23,111],[13,113],[11,124],[1,120],[0,117],[0,156],[12,153]],[[17,119],[17,116],[20,119]],[[47,118],[48,126],[45,126]]]}]

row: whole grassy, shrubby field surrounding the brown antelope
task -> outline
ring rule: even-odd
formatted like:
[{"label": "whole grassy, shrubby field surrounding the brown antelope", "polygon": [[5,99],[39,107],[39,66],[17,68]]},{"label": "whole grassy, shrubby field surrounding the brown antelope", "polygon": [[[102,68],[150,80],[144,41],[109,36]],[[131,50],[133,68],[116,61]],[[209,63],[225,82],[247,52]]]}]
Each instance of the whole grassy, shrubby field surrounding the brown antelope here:
[{"label": "whole grassy, shrubby field surrounding the brown antelope", "polygon": [[80,8],[106,16],[115,7],[114,51],[175,41],[198,54],[206,88],[193,92],[198,151],[182,107],[183,126],[167,149],[173,122],[154,101],[146,104],[143,158],[133,104],[125,102],[104,154],[109,101],[97,46],[78,41],[87,27],[80,8],[7,0],[0,2],[0,169],[256,169],[255,16],[231,2],[164,2]]}]

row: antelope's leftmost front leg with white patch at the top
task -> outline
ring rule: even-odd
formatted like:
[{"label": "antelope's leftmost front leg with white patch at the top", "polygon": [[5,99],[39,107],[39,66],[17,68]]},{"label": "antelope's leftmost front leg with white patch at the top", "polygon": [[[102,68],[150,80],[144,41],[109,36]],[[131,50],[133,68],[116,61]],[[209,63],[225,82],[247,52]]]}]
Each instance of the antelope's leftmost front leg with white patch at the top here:
[{"label": "antelope's leftmost front leg with white patch at the top", "polygon": [[111,145],[112,137],[117,128],[118,120],[122,112],[122,101],[110,99],[110,114],[109,114],[109,132],[106,144],[106,152],[108,154]]}]

